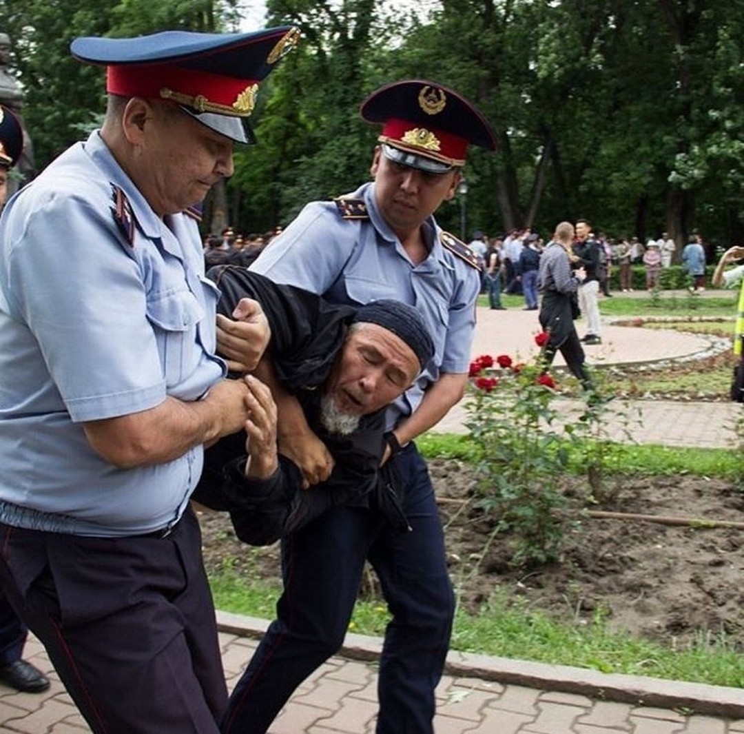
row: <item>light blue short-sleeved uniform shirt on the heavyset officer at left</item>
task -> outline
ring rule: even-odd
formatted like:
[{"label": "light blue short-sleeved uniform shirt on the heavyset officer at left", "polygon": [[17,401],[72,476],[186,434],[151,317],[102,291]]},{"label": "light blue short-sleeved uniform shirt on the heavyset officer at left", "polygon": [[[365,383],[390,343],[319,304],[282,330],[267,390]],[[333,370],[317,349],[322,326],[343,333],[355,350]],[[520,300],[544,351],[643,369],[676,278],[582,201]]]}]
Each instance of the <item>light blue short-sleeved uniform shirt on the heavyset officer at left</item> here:
[{"label": "light blue short-sleeved uniform shirt on the heavyset officer at left", "polygon": [[95,132],[8,202],[0,250],[0,520],[98,536],[175,522],[202,447],[122,470],[81,423],[198,400],[225,374],[196,222],[158,217]]}]

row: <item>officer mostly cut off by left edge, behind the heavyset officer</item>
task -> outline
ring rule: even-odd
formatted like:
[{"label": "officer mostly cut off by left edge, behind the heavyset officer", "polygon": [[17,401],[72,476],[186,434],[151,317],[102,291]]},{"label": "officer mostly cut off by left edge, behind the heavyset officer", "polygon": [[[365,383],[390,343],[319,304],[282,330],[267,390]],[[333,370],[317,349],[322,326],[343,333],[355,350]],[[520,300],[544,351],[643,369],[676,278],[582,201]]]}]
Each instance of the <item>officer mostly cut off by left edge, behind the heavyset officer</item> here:
[{"label": "officer mostly cut off by left edge, behind the heavyset officer", "polygon": [[[0,210],[7,197],[8,175],[23,150],[21,124],[7,107],[0,105]],[[28,660],[22,660],[28,630],[10,602],[0,593],[0,680],[25,693],[41,693],[49,679]]]}]

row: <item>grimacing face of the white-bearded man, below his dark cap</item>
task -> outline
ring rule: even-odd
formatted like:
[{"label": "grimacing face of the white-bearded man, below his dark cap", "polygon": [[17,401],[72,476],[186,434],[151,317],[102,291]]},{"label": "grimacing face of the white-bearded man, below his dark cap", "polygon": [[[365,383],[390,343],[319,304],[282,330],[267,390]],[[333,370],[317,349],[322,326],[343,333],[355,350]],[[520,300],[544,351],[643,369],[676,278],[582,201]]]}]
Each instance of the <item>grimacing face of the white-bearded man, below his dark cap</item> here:
[{"label": "grimacing face of the white-bearded man, below his dark cap", "polygon": [[420,364],[399,336],[376,324],[353,325],[324,386],[324,424],[334,433],[350,433],[362,415],[402,395]]}]

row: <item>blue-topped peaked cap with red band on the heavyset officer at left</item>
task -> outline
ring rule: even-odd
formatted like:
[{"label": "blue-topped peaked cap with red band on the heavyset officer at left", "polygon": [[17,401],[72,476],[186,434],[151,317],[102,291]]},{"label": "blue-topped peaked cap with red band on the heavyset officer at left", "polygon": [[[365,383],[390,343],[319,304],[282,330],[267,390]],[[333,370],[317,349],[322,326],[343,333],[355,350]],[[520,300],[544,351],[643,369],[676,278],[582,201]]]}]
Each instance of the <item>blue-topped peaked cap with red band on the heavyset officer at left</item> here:
[{"label": "blue-topped peaked cap with red band on the heavyset officer at left", "polygon": [[136,38],[75,39],[84,63],[106,66],[106,92],[169,100],[239,143],[255,138],[246,121],[258,84],[298,43],[292,26],[254,33],[164,31]]}]

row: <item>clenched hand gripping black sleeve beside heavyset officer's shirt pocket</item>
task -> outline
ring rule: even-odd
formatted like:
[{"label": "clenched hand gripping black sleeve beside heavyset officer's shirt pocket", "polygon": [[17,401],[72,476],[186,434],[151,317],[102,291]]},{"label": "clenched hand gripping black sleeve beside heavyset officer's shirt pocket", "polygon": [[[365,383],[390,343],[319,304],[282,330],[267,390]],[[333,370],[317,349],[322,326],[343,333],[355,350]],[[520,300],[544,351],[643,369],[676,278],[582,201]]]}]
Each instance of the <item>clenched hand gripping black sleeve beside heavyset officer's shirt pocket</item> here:
[{"label": "clenched hand gripping black sleeve beside heavyset officer's shirt pocket", "polygon": [[233,319],[217,315],[217,351],[231,371],[253,371],[272,335],[266,314],[258,301],[240,299]]}]

